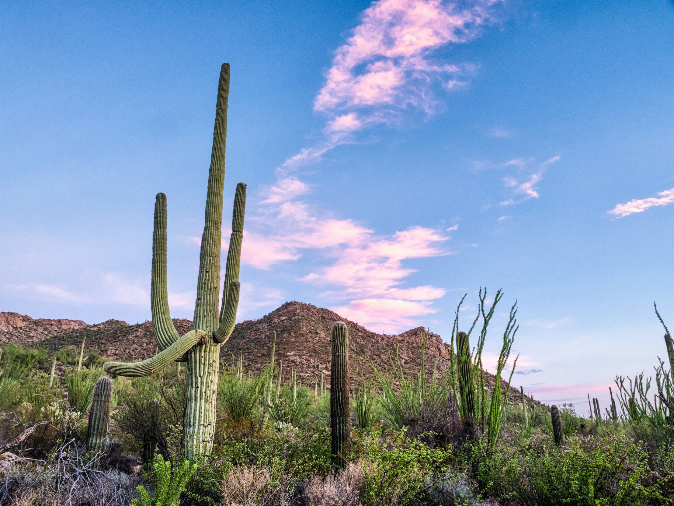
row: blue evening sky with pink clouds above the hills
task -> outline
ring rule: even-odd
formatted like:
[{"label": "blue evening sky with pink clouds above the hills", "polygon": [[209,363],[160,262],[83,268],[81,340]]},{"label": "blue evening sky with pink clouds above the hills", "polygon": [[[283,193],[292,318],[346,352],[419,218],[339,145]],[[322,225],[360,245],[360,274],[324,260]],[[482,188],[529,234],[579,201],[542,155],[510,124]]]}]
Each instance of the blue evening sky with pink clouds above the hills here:
[{"label": "blue evening sky with pink clouds above the hills", "polygon": [[150,318],[154,196],[191,318],[220,65],[238,320],[283,302],[450,339],[518,304],[514,384],[607,405],[674,325],[674,2],[6,1],[0,310]]}]

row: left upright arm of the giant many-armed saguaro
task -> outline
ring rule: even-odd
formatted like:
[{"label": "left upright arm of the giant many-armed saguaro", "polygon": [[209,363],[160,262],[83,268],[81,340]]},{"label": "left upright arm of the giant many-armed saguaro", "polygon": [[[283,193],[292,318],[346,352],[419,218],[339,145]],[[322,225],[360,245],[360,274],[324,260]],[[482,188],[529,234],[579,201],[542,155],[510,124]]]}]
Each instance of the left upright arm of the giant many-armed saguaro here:
[{"label": "left upright arm of the giant many-armed saguaro", "polygon": [[159,349],[166,349],[180,336],[168,310],[166,283],[166,195],[158,193],[154,200],[154,232],[152,233],[152,328]]}]

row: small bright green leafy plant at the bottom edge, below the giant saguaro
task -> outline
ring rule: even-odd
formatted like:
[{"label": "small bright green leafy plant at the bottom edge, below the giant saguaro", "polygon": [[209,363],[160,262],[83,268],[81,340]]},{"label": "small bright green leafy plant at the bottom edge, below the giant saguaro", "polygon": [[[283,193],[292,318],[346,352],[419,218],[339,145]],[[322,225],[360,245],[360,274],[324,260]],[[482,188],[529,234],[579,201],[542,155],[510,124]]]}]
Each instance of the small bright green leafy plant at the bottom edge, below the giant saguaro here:
[{"label": "small bright green leafy plant at the bottom edge, below the giant saguaro", "polygon": [[140,501],[132,499],[131,504],[133,506],[179,506],[180,495],[197,467],[196,463],[190,465],[185,460],[175,472],[171,473],[171,462],[164,462],[164,457],[155,455],[152,463],[152,470],[157,480],[154,497],[150,496],[144,486],[138,485]]}]

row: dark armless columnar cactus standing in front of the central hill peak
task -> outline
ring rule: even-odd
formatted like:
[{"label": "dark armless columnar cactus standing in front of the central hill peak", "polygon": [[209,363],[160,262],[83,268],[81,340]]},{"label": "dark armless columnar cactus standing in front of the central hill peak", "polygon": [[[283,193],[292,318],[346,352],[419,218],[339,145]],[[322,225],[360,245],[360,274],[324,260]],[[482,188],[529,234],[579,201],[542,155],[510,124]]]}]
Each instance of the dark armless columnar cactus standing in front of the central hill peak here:
[{"label": "dark armless columnar cactus standing in front of the central hill peak", "polygon": [[344,451],[351,432],[351,410],[348,385],[348,330],[346,323],[332,326],[332,362],[330,370],[330,428],[332,455],[338,466],[344,466]]}]

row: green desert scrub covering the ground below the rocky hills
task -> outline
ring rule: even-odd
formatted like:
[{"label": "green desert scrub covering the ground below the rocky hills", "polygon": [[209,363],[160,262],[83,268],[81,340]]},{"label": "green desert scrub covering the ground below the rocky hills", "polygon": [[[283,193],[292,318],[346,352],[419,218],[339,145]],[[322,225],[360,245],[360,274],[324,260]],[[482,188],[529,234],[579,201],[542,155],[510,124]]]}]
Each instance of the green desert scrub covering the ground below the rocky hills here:
[{"label": "green desert scrub covering the ground below the rocky hills", "polygon": [[[655,376],[618,376],[613,404],[601,412],[595,401],[592,416],[583,418],[574,405],[549,410],[519,390],[481,387],[480,345],[500,299],[487,308],[485,295],[482,329],[473,324],[460,337],[464,351],[448,374],[423,361],[419,374],[407,377],[392,354],[377,381],[349,378],[350,427],[337,446],[330,427],[338,400],[328,382],[302,385],[292,371],[284,381],[273,347],[261,373],[244,370],[241,357],[223,360],[214,447],[189,465],[183,364],[110,380],[94,349],[50,355],[7,345],[0,358],[0,503],[671,504],[669,331],[667,362],[658,362]],[[517,328],[515,312],[502,360]],[[473,334],[476,345],[466,346]]]}]

